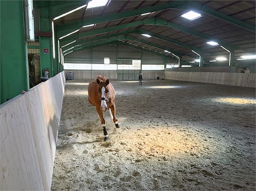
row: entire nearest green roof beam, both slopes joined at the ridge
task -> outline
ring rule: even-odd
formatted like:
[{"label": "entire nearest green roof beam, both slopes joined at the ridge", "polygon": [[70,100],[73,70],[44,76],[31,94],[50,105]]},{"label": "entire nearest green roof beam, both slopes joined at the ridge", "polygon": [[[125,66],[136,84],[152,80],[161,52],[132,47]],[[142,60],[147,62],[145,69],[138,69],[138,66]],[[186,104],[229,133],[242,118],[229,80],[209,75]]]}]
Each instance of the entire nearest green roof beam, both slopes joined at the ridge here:
[{"label": "entire nearest green roof beam, both slopes joined at the ridge", "polygon": [[56,26],[56,30],[63,30],[66,33],[69,33],[69,30],[75,30],[77,28],[81,28],[84,25],[88,24],[95,24],[95,23],[100,23],[100,22],[106,22],[110,20],[116,20],[116,19],[121,19],[121,18],[127,18],[130,16],[135,16],[147,12],[153,12],[153,11],[158,11],[158,10],[164,10],[164,9],[185,9],[185,10],[198,10],[205,12],[206,14],[210,14],[216,18],[220,18],[222,20],[225,20],[226,22],[235,24],[237,26],[240,26],[242,28],[245,28],[246,30],[250,30],[255,33],[255,26],[252,26],[250,24],[247,24],[245,22],[242,22],[241,20],[235,19],[231,16],[225,15],[221,12],[218,12],[212,8],[209,8],[207,6],[204,6],[200,3],[196,3],[195,1],[173,1],[173,2],[167,2],[164,4],[159,4],[156,6],[150,6],[150,7],[145,7],[145,8],[140,8],[136,10],[130,10],[126,12],[121,12],[121,13],[115,13],[115,14],[107,14],[104,16],[99,16],[96,18],[90,18],[90,19],[85,19],[85,20],[79,20],[75,22],[69,22],[65,24],[59,24]]}]

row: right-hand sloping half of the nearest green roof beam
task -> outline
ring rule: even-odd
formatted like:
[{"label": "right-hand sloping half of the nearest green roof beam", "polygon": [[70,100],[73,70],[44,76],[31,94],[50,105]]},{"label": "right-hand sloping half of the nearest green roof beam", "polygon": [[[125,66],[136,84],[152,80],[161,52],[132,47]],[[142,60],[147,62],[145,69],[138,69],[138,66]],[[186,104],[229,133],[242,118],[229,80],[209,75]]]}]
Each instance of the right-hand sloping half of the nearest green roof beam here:
[{"label": "right-hand sloping half of the nearest green roof beam", "polygon": [[210,14],[216,18],[225,20],[226,22],[229,22],[231,24],[234,24],[236,26],[242,27],[246,30],[250,30],[253,33],[255,33],[255,30],[256,30],[255,26],[253,26],[251,24],[248,24],[246,22],[243,22],[241,20],[238,20],[238,19],[228,16],[226,14],[223,14],[223,13],[216,11],[208,6],[204,6],[200,3],[197,3],[196,1],[185,1],[185,3],[186,3],[185,5],[179,6],[179,8],[187,9],[187,10],[191,10],[191,9],[199,10],[199,11],[205,12],[206,14]]}]

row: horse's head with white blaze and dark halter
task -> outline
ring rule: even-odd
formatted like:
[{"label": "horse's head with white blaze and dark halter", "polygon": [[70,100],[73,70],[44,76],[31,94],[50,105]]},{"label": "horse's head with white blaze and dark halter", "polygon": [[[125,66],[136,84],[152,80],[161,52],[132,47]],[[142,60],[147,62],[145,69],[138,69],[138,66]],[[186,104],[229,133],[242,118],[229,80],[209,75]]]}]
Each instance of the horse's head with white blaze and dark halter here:
[{"label": "horse's head with white blaze and dark halter", "polygon": [[106,112],[108,110],[108,98],[109,98],[109,89],[108,84],[109,80],[106,79],[105,81],[101,81],[100,79],[97,79],[98,83],[98,96],[99,100],[101,102],[100,109],[102,112]]}]

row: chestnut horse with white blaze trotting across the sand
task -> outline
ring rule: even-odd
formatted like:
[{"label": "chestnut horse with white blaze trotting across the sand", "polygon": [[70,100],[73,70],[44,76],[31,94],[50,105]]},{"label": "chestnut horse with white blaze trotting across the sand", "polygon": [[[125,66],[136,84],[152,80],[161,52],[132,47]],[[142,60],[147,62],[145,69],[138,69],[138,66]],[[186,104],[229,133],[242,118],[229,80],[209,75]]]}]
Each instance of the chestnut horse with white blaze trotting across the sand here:
[{"label": "chestnut horse with white blaze trotting across the sand", "polygon": [[106,131],[106,121],[103,117],[103,112],[107,110],[117,128],[121,127],[116,116],[116,106],[114,104],[115,91],[113,85],[104,76],[98,76],[88,85],[88,99],[92,106],[96,106],[96,111],[99,114],[103,133],[105,135],[104,141],[109,140]]}]

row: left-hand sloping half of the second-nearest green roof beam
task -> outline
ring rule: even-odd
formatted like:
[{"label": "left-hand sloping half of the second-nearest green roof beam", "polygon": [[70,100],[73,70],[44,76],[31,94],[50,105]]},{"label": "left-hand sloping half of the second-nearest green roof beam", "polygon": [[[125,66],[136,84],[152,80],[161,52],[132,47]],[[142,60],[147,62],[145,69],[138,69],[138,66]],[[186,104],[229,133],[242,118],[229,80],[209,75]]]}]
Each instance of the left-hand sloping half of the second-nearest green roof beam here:
[{"label": "left-hand sloping half of the second-nearest green roof beam", "polygon": [[[125,24],[120,24],[117,26],[110,26],[107,28],[99,28],[96,30],[92,30],[92,31],[88,31],[88,32],[83,32],[83,33],[74,33],[68,37],[65,37],[63,39],[60,39],[60,41],[69,41],[69,40],[76,40],[79,39],[81,37],[87,37],[90,35],[97,35],[100,33],[106,33],[106,32],[110,32],[112,30],[119,30],[119,29],[123,29],[123,28],[128,28],[128,27],[133,27],[133,26],[138,26],[141,24],[155,24],[155,18],[148,18],[148,19],[144,19],[144,20],[138,20],[135,22],[130,22],[130,23],[125,23]],[[57,38],[62,37],[63,35],[66,34],[60,34],[57,32]]]}]

